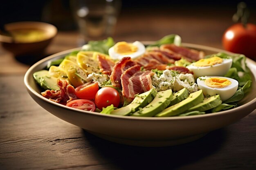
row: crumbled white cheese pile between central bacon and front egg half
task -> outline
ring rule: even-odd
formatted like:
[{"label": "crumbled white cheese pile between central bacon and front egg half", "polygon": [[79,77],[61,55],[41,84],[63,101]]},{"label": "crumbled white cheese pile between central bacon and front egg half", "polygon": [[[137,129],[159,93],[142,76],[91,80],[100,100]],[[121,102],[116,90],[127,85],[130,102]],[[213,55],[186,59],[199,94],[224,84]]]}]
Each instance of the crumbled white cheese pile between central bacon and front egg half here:
[{"label": "crumbled white cheese pile between central bacon and front egg half", "polygon": [[173,71],[165,70],[159,77],[153,75],[151,79],[157,91],[172,89],[173,92],[177,92],[184,87],[188,89],[190,93],[198,91],[198,85],[195,83],[193,75],[189,73],[177,74]]}]

